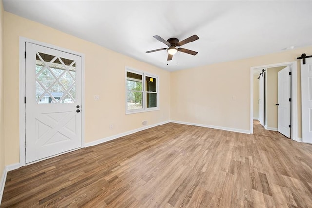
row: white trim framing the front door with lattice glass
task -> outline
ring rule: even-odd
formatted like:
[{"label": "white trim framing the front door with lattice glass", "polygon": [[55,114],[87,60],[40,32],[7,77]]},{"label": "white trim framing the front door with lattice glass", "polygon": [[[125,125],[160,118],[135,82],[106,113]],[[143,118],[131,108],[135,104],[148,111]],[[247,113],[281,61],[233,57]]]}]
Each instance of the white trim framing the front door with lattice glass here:
[{"label": "white trim framing the front door with lattice glass", "polygon": [[[62,48],[59,46],[51,45],[44,42],[39,42],[36,40],[28,39],[25,37],[20,36],[20,99],[19,99],[19,105],[20,105],[20,166],[26,165],[26,157],[25,157],[25,105],[24,105],[24,97],[25,97],[25,44],[26,42],[41,45],[47,48],[52,48],[55,50],[63,51],[66,53],[71,53],[77,56],[81,57],[81,109],[85,106],[85,84],[84,84],[84,71],[85,71],[85,55],[82,53],[79,53],[77,51],[72,51],[66,48]],[[85,127],[85,112],[84,110],[81,110],[81,147],[84,146],[84,127]]]}]

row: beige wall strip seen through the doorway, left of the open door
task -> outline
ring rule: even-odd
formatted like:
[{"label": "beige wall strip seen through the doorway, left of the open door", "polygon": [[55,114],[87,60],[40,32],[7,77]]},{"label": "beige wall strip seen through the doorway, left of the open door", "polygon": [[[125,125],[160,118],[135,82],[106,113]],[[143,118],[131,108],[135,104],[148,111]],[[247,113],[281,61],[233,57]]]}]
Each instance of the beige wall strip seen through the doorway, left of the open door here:
[{"label": "beige wall strip seen through the doorway, left of the open door", "polygon": [[278,72],[285,68],[272,67],[267,69],[267,117],[268,124],[267,127],[277,129],[277,87],[278,87]]}]

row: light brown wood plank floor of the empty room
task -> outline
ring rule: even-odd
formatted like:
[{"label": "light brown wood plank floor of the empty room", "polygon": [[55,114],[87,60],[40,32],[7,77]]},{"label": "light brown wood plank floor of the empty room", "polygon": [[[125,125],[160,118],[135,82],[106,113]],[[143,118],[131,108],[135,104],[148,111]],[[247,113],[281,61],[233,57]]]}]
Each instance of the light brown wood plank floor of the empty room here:
[{"label": "light brown wood plank floor of the empty room", "polygon": [[311,208],[312,145],[260,127],[169,123],[24,166],[1,207]]}]

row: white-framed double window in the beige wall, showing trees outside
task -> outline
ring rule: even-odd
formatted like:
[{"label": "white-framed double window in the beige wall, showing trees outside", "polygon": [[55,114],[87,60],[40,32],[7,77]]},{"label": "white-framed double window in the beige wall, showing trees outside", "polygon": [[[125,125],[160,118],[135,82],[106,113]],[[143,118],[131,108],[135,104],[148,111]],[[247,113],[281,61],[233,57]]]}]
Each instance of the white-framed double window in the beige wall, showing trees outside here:
[{"label": "white-framed double window in the beige wall, showing trees outside", "polygon": [[126,114],[158,110],[158,76],[126,68]]}]

